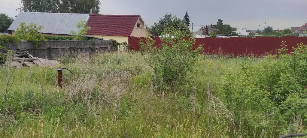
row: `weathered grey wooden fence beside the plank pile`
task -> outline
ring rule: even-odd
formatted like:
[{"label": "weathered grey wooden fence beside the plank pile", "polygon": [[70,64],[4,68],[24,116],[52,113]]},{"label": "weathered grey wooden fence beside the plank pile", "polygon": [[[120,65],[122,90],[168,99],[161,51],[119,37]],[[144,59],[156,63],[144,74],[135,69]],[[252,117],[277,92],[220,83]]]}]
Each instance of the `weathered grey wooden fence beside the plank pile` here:
[{"label": "weathered grey wooden fence beside the plank pile", "polygon": [[4,46],[6,49],[27,51],[33,56],[44,59],[55,59],[62,55],[82,52],[114,50],[112,40],[50,40],[42,43],[37,49],[29,41],[21,41],[19,44],[9,43]]}]

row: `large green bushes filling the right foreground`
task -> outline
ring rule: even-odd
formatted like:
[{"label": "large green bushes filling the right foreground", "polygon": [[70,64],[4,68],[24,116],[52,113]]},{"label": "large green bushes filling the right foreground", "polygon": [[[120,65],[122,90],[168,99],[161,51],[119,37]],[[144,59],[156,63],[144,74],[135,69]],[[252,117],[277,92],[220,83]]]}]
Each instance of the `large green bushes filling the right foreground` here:
[{"label": "large green bushes filling the right foreground", "polygon": [[229,70],[223,75],[225,104],[236,125],[258,133],[266,127],[267,132],[284,134],[283,128],[293,123],[293,116],[307,114],[307,45],[298,44],[288,55],[282,43],[279,59],[268,55],[252,66],[247,65],[248,59],[241,63],[240,71]]}]

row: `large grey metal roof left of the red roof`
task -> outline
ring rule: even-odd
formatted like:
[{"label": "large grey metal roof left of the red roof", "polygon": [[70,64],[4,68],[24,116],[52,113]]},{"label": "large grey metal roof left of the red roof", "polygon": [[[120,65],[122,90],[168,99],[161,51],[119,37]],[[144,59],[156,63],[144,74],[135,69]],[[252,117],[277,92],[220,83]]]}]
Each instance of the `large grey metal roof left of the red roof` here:
[{"label": "large grey metal roof left of the red roof", "polygon": [[39,33],[71,35],[71,31],[78,31],[76,24],[80,19],[87,21],[89,17],[89,14],[78,13],[20,12],[8,30],[15,31],[20,22],[25,22],[26,25],[29,25],[32,22],[38,26],[44,26],[44,29],[39,31]]}]

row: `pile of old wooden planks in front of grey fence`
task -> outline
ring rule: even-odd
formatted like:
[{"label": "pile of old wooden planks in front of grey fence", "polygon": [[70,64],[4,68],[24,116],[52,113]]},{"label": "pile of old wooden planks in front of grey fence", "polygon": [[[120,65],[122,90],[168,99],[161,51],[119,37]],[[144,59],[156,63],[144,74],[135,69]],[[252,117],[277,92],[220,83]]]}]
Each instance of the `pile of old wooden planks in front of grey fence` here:
[{"label": "pile of old wooden planks in front of grey fence", "polygon": [[[7,56],[8,50],[0,49],[0,54]],[[40,67],[55,67],[60,63],[56,60],[42,59],[38,57],[34,57],[27,52],[24,51],[13,51],[13,55],[11,58],[11,67],[21,68],[24,66],[30,67],[33,65],[37,65]]]}]

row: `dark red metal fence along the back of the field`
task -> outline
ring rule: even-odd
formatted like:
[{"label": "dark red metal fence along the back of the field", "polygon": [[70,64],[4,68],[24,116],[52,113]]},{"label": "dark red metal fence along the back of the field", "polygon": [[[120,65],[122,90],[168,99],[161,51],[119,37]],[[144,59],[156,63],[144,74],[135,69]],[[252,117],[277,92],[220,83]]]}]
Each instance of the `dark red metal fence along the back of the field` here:
[{"label": "dark red metal fence along the back of the field", "polygon": [[[129,37],[129,48],[138,51],[140,46],[138,44],[139,37]],[[141,40],[145,38],[140,37]],[[159,37],[153,38],[155,40],[155,46],[160,45],[161,40]],[[260,56],[270,52],[272,54],[277,53],[277,48],[281,48],[282,40],[286,41],[288,49],[296,46],[297,43],[307,44],[307,37],[256,37],[256,38],[241,38],[241,37],[230,37],[230,38],[196,38],[194,46],[202,45],[205,53],[210,54],[231,54],[234,56],[242,55],[254,55]]]}]

